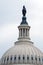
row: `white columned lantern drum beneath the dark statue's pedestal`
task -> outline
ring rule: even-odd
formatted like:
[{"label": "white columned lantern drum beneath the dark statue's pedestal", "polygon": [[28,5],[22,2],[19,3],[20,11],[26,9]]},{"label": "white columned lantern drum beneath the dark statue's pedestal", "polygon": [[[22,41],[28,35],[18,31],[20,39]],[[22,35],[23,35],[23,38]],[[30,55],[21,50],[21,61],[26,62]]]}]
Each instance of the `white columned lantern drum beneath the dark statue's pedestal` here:
[{"label": "white columned lantern drum beneath the dark statue's pedestal", "polygon": [[18,40],[20,39],[28,39],[30,40],[30,37],[29,37],[29,30],[30,30],[30,26],[28,25],[20,25],[18,26],[18,29],[19,29],[19,38]]}]

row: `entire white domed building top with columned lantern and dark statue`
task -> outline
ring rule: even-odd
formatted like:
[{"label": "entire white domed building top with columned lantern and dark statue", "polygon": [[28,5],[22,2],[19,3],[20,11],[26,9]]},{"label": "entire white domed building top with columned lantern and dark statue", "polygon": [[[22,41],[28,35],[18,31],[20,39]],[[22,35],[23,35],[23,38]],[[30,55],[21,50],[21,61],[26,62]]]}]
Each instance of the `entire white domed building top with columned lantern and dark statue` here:
[{"label": "entire white domed building top with columned lantern and dark statue", "polygon": [[1,65],[43,65],[43,53],[34,46],[29,37],[30,26],[26,21],[25,6],[23,6],[22,14],[22,22],[18,26],[18,41],[4,53]]}]

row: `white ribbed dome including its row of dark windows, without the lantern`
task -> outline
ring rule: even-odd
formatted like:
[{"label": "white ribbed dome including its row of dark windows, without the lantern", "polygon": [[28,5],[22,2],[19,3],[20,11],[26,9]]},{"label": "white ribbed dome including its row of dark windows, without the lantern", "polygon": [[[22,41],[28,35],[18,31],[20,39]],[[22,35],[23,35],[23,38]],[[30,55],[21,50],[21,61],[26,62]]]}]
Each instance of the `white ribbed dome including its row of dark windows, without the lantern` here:
[{"label": "white ribbed dome including its row of dark windows, without the lantern", "polygon": [[[16,61],[14,58],[16,57]],[[24,59],[23,59],[24,57]],[[9,58],[9,60],[7,60]],[[12,59],[13,60],[12,60]],[[3,63],[28,63],[28,64],[42,64],[43,63],[43,53],[36,48],[33,44],[16,44],[14,47],[10,48],[2,57]],[[12,62],[11,62],[12,61]]]}]

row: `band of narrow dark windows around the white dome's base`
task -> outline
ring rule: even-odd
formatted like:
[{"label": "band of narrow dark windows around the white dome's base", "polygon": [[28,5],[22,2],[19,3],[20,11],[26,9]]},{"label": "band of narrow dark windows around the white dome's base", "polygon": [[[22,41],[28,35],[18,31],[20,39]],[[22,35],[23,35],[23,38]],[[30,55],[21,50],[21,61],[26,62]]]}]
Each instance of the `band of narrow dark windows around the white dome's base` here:
[{"label": "band of narrow dark windows around the white dome's base", "polygon": [[6,65],[6,64],[42,64],[42,63],[43,61],[41,57],[35,57],[35,56],[33,57],[32,55],[31,56],[15,55],[15,56],[8,56],[8,57],[2,58],[3,65]]}]

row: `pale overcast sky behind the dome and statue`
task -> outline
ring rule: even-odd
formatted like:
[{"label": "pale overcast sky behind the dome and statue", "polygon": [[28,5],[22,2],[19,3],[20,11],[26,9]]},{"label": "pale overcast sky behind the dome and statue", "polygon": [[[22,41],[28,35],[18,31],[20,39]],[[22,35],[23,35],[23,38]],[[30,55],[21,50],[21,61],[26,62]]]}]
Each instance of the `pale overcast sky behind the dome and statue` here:
[{"label": "pale overcast sky behind the dome and statue", "polygon": [[43,52],[43,0],[0,0],[0,58],[18,38],[23,5],[31,26],[30,38]]}]

